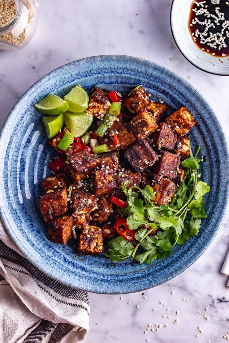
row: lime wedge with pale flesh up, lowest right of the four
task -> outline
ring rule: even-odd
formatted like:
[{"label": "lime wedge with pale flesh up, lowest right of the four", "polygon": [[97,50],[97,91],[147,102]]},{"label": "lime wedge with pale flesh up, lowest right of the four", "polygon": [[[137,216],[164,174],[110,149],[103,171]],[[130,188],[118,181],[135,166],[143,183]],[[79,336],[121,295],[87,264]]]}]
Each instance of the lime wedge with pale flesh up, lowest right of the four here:
[{"label": "lime wedge with pale flesh up, lowest right of the four", "polygon": [[93,115],[83,113],[64,113],[65,125],[75,137],[80,137],[88,130],[93,121]]}]

